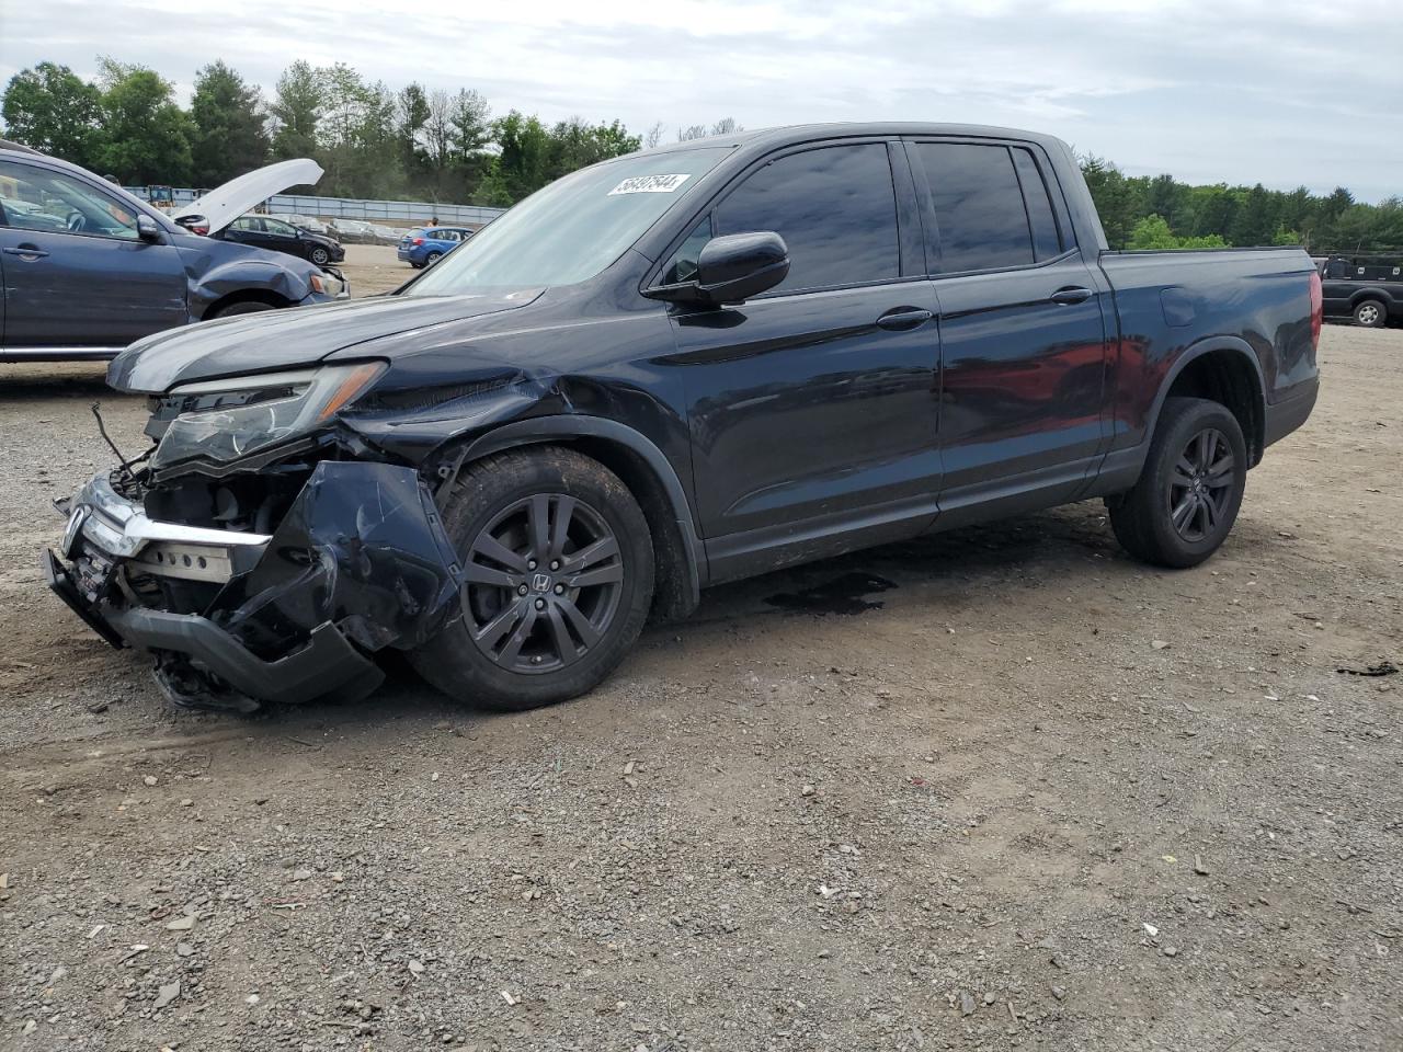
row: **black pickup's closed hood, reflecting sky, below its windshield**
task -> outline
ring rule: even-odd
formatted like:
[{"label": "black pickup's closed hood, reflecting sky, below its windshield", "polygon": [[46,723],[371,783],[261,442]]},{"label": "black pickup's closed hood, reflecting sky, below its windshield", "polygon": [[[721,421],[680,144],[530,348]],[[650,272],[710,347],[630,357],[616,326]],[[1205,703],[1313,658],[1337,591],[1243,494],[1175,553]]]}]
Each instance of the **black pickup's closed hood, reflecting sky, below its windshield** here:
[{"label": "black pickup's closed hood, reflecting sky, below its windshield", "polygon": [[[136,341],[112,359],[107,382],[119,391],[160,394],[195,380],[314,365],[384,337],[525,307],[540,293],[384,296],[237,314]],[[366,356],[375,358],[376,349],[366,346]]]}]

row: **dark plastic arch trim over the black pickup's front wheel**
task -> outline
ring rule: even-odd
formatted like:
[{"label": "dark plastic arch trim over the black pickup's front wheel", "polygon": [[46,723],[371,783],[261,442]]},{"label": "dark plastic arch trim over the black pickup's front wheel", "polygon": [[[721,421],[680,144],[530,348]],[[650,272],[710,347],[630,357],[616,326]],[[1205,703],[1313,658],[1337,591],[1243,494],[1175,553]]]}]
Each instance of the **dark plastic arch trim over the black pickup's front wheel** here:
[{"label": "dark plastic arch trim over the black pickup's front wheel", "polygon": [[464,464],[490,453],[522,446],[568,446],[623,480],[643,508],[652,533],[655,567],[654,613],[665,620],[690,614],[702,598],[706,564],[692,502],[672,464],[645,435],[605,417],[535,417],[492,428],[441,447],[441,488],[452,485]]}]

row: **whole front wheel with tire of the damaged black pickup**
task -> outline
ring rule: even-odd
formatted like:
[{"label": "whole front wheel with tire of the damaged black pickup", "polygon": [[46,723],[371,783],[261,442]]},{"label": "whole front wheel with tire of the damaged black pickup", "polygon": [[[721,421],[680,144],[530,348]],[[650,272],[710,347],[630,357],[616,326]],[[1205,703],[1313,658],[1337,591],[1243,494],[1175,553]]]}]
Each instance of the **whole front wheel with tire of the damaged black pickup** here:
[{"label": "whole front wheel with tire of the damaged black pickup", "polygon": [[467,584],[460,612],[410,662],[449,697],[511,713],[565,701],[613,672],[643,631],[652,537],[596,460],[558,446],[477,460],[453,483],[443,523]]}]

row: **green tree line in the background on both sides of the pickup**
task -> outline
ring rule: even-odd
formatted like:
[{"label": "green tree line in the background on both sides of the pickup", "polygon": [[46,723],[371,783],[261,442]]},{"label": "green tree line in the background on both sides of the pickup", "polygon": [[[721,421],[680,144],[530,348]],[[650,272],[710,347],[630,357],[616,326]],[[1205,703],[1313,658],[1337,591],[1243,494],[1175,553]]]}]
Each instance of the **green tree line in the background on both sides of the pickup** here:
[{"label": "green tree line in the background on both sides of the pickup", "polygon": [[[7,135],[45,153],[115,175],[128,185],[209,188],[286,157],[325,170],[317,192],[347,198],[431,199],[509,206],[551,180],[595,161],[659,144],[659,122],[641,135],[619,121],[547,125],[509,109],[492,116],[470,88],[398,90],[345,63],[293,62],[265,98],[223,62],[202,67],[189,108],[154,70],[98,60],[94,81],[41,62],[10,79],[0,102]],[[678,140],[739,130],[734,119],[685,125]],[[1303,244],[1312,252],[1403,251],[1403,201],[1357,202],[1337,187],[1324,196],[1215,184],[1173,175],[1129,177],[1082,159],[1113,248]]]}]

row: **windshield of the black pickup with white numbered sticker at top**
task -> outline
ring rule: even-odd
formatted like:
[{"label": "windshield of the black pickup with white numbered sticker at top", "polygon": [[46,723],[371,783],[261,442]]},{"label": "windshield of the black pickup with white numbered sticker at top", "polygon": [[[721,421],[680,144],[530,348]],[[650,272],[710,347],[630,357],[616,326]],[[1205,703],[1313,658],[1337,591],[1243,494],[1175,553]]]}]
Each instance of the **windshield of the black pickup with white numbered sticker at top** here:
[{"label": "windshield of the black pickup with white numbered sticker at top", "polygon": [[478,230],[404,295],[574,285],[593,278],[728,151],[671,150],[581,168]]}]

